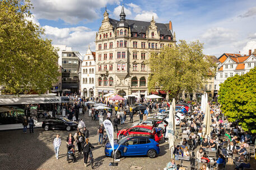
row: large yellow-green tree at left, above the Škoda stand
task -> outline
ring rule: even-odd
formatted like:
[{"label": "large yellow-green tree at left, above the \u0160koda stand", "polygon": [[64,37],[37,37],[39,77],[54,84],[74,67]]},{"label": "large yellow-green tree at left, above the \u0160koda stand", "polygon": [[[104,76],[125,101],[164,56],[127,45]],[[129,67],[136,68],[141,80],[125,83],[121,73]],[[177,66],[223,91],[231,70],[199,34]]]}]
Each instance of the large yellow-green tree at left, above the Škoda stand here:
[{"label": "large yellow-green tree at left, above the \u0160koda stand", "polygon": [[7,93],[44,93],[57,81],[58,55],[44,30],[27,20],[29,0],[0,2],[0,84]]}]

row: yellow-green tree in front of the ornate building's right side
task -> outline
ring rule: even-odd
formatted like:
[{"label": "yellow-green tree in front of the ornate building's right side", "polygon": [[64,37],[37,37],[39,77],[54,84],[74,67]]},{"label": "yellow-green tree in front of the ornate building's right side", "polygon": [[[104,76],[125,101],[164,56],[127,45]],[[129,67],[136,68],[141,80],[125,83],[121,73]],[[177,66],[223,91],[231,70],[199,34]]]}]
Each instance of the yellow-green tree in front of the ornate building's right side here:
[{"label": "yellow-green tree in front of the ornate building's right side", "polygon": [[165,46],[160,54],[151,54],[149,91],[161,87],[174,98],[183,90],[196,91],[204,80],[215,75],[215,64],[203,58],[203,44],[199,41],[181,40],[175,47]]}]

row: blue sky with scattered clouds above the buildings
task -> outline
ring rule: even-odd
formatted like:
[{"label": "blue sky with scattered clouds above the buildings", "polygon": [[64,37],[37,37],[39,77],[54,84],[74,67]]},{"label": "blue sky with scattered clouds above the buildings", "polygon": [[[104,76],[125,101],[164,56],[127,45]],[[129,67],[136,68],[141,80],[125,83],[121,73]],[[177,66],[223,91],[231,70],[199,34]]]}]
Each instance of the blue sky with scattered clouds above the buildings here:
[{"label": "blue sky with scattered clouds above the buildings", "polygon": [[53,44],[72,46],[84,54],[90,45],[95,50],[105,6],[110,18],[119,19],[122,3],[131,20],[173,22],[178,40],[200,40],[204,53],[248,54],[256,49],[255,0],[32,0],[33,21],[45,29]]}]

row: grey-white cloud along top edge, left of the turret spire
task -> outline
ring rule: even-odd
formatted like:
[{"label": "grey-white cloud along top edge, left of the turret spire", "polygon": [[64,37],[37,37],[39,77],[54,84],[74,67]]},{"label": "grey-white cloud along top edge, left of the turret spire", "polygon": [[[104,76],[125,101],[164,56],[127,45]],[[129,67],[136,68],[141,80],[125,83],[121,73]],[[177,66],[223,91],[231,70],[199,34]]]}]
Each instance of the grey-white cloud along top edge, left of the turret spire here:
[{"label": "grey-white cloud along top edge, left of the turret spire", "polygon": [[32,12],[38,19],[63,20],[76,24],[80,21],[92,21],[99,18],[98,11],[106,4],[120,3],[120,0],[32,0]]}]

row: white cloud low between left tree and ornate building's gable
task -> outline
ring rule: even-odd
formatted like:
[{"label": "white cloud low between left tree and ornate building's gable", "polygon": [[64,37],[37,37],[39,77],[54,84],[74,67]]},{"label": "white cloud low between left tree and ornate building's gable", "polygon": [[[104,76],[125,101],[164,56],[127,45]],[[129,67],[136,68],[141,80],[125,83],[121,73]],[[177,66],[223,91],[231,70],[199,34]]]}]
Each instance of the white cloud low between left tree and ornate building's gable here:
[{"label": "white cloud low between left tree and ornate building's gable", "polygon": [[45,36],[53,40],[53,44],[71,46],[81,54],[86,53],[88,45],[95,50],[96,31],[87,27],[71,27],[59,29],[58,27],[44,26]]}]

